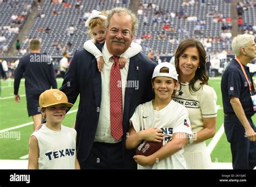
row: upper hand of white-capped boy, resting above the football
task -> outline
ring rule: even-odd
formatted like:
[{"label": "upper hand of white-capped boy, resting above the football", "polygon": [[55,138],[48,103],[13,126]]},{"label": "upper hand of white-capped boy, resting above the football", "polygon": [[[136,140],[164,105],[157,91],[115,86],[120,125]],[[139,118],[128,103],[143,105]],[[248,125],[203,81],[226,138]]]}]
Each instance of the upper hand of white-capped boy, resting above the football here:
[{"label": "upper hand of white-capped boy, resting above the football", "polygon": [[164,140],[164,134],[161,132],[162,130],[160,130],[160,128],[151,127],[146,130],[139,131],[138,135],[142,140],[161,142],[161,140]]}]

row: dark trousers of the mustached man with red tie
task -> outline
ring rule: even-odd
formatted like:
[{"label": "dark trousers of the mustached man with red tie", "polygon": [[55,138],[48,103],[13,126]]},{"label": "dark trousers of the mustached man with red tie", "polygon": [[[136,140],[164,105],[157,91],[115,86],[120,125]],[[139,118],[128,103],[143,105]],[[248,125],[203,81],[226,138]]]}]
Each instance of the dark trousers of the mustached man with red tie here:
[{"label": "dark trousers of the mustached man with red tie", "polygon": [[94,142],[81,169],[124,169],[122,141],[118,143]]}]

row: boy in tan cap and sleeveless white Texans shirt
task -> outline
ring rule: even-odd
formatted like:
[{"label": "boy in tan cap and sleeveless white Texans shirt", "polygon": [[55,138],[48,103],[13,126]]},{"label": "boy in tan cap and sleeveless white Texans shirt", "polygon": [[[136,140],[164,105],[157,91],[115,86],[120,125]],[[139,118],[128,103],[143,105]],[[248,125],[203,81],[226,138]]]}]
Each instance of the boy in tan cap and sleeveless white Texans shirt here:
[{"label": "boy in tan cap and sleeveless white Texans shirt", "polygon": [[33,132],[29,147],[28,169],[80,169],[76,154],[73,128],[61,125],[68,103],[65,93],[58,89],[44,91],[39,106],[46,123]]}]

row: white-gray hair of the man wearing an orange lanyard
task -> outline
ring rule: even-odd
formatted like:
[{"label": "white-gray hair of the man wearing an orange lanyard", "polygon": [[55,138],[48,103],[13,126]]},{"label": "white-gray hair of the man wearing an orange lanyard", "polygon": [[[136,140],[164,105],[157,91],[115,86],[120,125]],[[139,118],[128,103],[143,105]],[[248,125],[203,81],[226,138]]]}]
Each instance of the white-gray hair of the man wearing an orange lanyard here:
[{"label": "white-gray hair of the man wearing an orange lanyard", "polygon": [[254,36],[251,34],[238,34],[232,40],[232,50],[236,56],[239,56],[241,47],[247,47],[251,40],[254,40]]}]

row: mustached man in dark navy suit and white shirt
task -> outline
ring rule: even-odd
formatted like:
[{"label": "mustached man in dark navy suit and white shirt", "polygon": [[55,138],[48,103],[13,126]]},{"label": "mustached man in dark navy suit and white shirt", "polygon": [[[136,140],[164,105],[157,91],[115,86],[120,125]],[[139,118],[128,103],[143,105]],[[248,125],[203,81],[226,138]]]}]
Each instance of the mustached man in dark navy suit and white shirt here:
[{"label": "mustached man in dark navy suit and white shirt", "polygon": [[[139,104],[153,99],[151,77],[156,63],[139,53],[127,61],[123,69],[116,71],[122,80],[119,84],[121,98],[112,96],[111,81],[116,78],[111,71],[120,56],[131,45],[138,20],[130,10],[114,8],[106,19],[106,42],[97,45],[102,50],[104,67],[98,71],[95,57],[84,49],[76,51],[66,72],[62,90],[75,103],[80,94],[76,117],[77,156],[82,169],[136,169],[133,150],[125,149],[129,134],[130,118]],[[126,84],[125,84],[126,83]],[[115,88],[117,89],[117,88]],[[112,103],[121,104],[116,116]],[[121,112],[121,113],[120,113]],[[122,132],[113,135],[113,119],[121,118]],[[119,131],[119,130],[116,130]],[[120,132],[120,131],[119,131]]]}]

